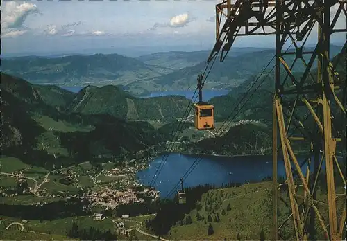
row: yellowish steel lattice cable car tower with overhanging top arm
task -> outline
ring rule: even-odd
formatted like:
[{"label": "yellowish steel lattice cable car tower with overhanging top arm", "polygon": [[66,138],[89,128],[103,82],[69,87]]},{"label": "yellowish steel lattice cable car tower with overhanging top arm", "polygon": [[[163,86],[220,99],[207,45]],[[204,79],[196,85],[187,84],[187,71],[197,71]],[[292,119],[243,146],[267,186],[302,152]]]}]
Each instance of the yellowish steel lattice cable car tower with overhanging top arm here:
[{"label": "yellowish steel lattice cable car tower with overhanging top arm", "polygon": [[[346,73],[339,74],[346,66],[346,42],[332,59],[330,36],[346,41],[346,16],[346,0],[226,0],[216,6],[217,42],[209,62],[219,51],[222,62],[237,37],[275,35],[273,240],[280,238],[282,227],[277,217],[278,155],[285,163],[291,209],[287,222],[292,220],[296,240],[314,240],[314,225],[329,240],[343,237],[346,172],[337,153],[344,155],[346,149]],[[343,26],[337,26],[339,17]],[[314,47],[305,48],[312,35]],[[289,52],[283,50],[287,39],[294,48]],[[293,71],[298,64],[301,76]],[[303,148],[307,157],[300,163],[298,150]],[[323,200],[317,197],[322,177],[328,190]]]}]

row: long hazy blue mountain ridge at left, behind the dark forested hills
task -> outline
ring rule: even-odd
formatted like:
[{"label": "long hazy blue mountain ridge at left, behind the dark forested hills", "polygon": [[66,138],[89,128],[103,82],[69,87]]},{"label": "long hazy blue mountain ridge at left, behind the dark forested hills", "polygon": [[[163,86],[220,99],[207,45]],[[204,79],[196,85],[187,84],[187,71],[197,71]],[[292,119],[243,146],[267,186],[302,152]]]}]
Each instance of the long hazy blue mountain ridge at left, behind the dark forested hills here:
[{"label": "long hazy blue mountain ridge at left, behind the dark forested hills", "polygon": [[1,61],[1,71],[35,84],[128,84],[167,73],[122,55],[73,55],[66,57],[15,57]]}]

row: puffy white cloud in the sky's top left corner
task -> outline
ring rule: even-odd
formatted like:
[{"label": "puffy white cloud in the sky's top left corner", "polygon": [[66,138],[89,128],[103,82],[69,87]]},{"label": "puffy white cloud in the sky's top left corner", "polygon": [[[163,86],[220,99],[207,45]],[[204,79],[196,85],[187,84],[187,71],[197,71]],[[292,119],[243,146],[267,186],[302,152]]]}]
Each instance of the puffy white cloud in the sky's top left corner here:
[{"label": "puffy white cloud in the sky's top left corner", "polygon": [[[1,3],[2,5],[3,3]],[[3,5],[1,26],[3,28],[22,27],[24,21],[29,15],[40,13],[37,6],[33,3],[17,3],[15,1],[6,1]]]}]

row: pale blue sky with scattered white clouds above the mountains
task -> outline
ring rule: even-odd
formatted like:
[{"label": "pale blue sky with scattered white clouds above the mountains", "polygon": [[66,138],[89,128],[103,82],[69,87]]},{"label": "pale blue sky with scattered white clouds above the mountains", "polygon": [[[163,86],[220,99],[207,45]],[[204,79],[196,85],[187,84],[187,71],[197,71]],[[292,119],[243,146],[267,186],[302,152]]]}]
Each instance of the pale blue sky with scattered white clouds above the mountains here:
[{"label": "pale blue sky with scattered white clouds above the mountains", "polygon": [[[133,52],[211,49],[214,6],[219,2],[2,0],[1,51],[56,54],[112,48]],[[346,18],[340,17],[338,25],[345,23]],[[345,36],[332,42],[344,42]],[[273,47],[273,41],[273,35],[240,37],[234,46]]]}]

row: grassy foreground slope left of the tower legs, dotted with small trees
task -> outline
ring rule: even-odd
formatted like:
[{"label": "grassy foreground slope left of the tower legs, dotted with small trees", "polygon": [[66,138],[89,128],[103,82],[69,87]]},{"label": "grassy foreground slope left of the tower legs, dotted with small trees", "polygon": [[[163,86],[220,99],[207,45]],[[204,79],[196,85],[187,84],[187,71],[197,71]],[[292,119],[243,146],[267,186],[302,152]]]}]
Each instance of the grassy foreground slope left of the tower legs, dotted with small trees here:
[{"label": "grassy foreground slope left of the tower legs, dotted with small trees", "polygon": [[[255,193],[257,192],[257,193]],[[262,227],[269,233],[271,224],[271,183],[249,184],[240,188],[223,188],[210,190],[201,199],[201,210],[194,209],[189,213],[193,223],[174,226],[169,238],[174,240],[237,240],[237,232],[248,240],[257,240]],[[230,204],[231,210],[227,210]],[[222,211],[226,211],[222,215]],[[204,216],[196,220],[196,213]],[[214,222],[219,215],[220,222]],[[212,217],[214,235],[208,235],[208,215]],[[231,219],[231,222],[230,222]]]}]

